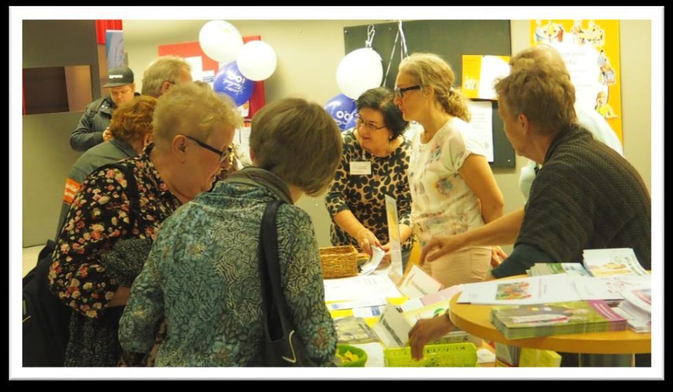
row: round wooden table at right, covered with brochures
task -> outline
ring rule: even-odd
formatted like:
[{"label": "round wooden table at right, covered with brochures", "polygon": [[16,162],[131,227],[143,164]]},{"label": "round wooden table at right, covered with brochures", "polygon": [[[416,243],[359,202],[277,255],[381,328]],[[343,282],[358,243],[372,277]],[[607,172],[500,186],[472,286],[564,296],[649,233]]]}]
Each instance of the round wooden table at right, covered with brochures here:
[{"label": "round wooden table at right, covered with brochures", "polygon": [[637,334],[630,329],[507,340],[490,321],[490,305],[461,304],[458,303],[460,296],[459,293],[451,299],[451,322],[468,334],[486,340],[531,349],[580,353],[580,366],[632,366],[633,354],[652,351],[652,334]]}]

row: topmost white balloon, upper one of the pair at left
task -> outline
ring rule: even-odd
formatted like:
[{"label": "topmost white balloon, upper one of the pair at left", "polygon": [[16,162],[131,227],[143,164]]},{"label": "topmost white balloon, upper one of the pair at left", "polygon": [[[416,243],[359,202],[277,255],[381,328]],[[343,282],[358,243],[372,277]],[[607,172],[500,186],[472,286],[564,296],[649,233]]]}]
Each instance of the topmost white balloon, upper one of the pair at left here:
[{"label": "topmost white balloon, upper one of the pair at left", "polygon": [[228,64],[239,55],[243,47],[243,37],[229,22],[210,21],[199,32],[199,44],[206,56]]}]

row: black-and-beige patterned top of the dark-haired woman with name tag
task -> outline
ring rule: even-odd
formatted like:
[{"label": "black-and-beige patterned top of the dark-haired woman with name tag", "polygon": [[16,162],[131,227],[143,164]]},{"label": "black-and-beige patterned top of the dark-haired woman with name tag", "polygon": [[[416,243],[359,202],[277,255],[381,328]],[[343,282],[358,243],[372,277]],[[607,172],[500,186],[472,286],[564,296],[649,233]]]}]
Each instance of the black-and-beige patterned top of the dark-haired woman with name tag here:
[{"label": "black-and-beige patterned top of the dark-haired woman with name tag", "polygon": [[[376,157],[365,151],[353,135],[355,129],[342,133],[344,138],[341,164],[334,176],[334,182],[325,197],[325,205],[330,217],[343,210],[351,210],[360,223],[381,241],[388,243],[386,219],[386,195],[397,200],[399,224],[411,226],[411,193],[407,171],[411,144],[404,137],[402,143],[387,157]],[[371,175],[351,174],[351,162],[371,162]],[[330,238],[334,246],[353,245],[357,240],[332,221]],[[402,243],[402,250],[410,250],[413,239],[410,236]]]}]

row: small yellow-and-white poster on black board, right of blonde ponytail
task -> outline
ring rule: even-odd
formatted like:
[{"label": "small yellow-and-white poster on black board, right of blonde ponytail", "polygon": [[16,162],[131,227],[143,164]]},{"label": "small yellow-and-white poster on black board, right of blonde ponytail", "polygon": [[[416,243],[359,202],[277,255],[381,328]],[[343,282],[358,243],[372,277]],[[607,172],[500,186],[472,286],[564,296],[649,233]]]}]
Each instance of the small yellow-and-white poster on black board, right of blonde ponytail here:
[{"label": "small yellow-and-white poster on black board, right of blonde ponytail", "polygon": [[463,85],[467,98],[498,99],[494,85],[509,75],[509,56],[463,54]]}]

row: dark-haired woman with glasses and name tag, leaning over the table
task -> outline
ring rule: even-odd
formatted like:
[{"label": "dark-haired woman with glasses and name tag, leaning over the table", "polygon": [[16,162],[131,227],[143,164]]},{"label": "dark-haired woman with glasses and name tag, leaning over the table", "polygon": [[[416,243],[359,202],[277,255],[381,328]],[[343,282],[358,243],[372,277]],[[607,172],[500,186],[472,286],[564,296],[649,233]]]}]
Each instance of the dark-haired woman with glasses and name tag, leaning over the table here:
[{"label": "dark-haired woman with glasses and name tag, leaning over the table", "polygon": [[342,133],[344,149],[334,182],[325,197],[332,218],[335,246],[353,245],[371,254],[377,246],[390,261],[386,195],[397,200],[402,263],[412,247],[411,195],[407,181],[411,144],[404,133],[409,123],[385,87],[357,98],[357,126]]}]

